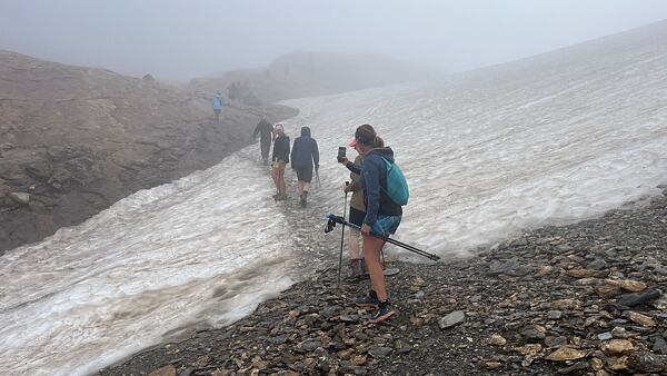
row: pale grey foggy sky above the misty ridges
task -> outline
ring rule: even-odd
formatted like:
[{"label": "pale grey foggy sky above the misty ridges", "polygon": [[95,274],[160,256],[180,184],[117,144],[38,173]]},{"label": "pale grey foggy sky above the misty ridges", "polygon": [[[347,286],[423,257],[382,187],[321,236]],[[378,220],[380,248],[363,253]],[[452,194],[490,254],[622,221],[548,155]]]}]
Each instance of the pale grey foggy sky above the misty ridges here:
[{"label": "pale grey foggy sky above the misty ridges", "polygon": [[162,79],[268,66],[293,50],[451,71],[665,19],[664,0],[0,0],[0,49]]}]

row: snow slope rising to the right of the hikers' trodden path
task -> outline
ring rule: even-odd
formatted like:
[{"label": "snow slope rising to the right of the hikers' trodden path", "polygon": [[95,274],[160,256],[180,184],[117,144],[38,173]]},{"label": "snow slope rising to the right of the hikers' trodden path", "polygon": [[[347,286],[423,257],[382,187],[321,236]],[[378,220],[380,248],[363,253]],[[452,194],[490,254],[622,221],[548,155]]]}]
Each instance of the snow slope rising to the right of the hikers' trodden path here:
[{"label": "snow slope rising to the right of the hikers' trodden path", "polygon": [[285,103],[322,149],[357,125],[376,127],[410,180],[399,236],[465,253],[659,194],[665,40],[667,22],[658,22],[428,85]]}]

